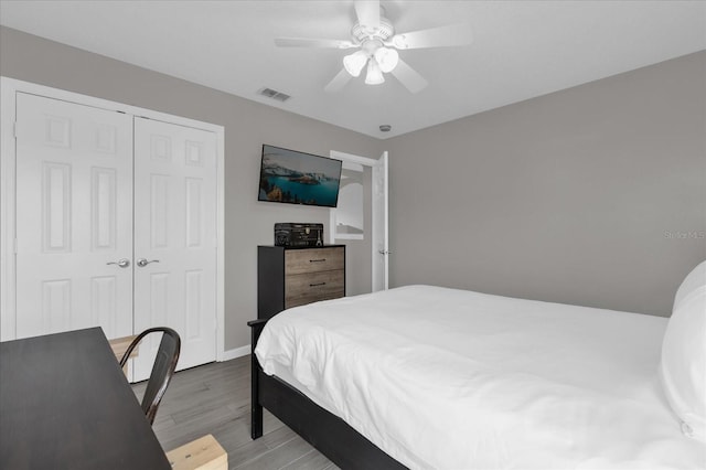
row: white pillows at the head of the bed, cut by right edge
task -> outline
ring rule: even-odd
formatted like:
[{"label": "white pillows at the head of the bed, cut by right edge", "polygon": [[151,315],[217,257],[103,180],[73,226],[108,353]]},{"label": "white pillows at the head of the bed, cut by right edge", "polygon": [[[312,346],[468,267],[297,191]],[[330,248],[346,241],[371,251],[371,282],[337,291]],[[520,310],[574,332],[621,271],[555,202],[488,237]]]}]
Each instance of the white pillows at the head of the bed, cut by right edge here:
[{"label": "white pillows at the head of the bed, cut by right edge", "polygon": [[706,442],[706,261],[676,291],[660,375],[682,431]]}]

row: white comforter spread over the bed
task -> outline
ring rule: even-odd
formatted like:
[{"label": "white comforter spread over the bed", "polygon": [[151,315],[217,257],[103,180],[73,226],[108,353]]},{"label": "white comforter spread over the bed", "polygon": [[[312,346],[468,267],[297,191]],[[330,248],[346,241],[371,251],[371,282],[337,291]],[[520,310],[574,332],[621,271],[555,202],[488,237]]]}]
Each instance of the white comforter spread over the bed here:
[{"label": "white comforter spread over the bed", "polygon": [[256,354],[413,469],[706,468],[657,378],[666,321],[408,286],[281,312]]}]

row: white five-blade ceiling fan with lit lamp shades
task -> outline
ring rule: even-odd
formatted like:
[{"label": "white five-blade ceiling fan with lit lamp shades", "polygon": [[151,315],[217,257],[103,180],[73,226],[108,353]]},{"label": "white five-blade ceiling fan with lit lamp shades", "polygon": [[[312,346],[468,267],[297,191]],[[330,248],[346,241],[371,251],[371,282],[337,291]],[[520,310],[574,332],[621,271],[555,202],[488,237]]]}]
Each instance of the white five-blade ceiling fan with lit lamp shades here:
[{"label": "white five-blade ceiling fan with lit lamp shades", "polygon": [[343,70],[325,86],[334,93],[343,88],[352,77],[361,75],[367,64],[365,83],[378,85],[385,82],[384,74],[392,73],[409,92],[418,93],[428,82],[399,58],[399,51],[422,47],[468,45],[472,41],[468,24],[450,24],[428,30],[395,34],[395,26],[385,18],[379,0],[356,0],[354,2],[357,22],[351,29],[350,40],[327,40],[309,38],[277,38],[280,47],[328,47],[357,49],[343,57]]}]

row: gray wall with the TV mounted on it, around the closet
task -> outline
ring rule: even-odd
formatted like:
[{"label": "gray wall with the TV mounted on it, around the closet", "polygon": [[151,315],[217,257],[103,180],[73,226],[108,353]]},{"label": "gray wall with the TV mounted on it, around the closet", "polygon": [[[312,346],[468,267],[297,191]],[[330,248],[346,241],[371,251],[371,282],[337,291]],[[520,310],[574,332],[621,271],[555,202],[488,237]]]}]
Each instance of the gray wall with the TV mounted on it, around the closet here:
[{"label": "gray wall with the TV mounted on it, around the closet", "polygon": [[[327,209],[257,202],[261,145],[323,156],[382,152],[381,142],[367,136],[8,28],[0,28],[0,74],[225,127],[226,350],[250,342],[246,322],[257,317],[256,246],[272,244],[272,225],[320,222],[329,228]],[[354,293],[365,286],[370,291],[371,249],[370,239],[347,248]]]}]

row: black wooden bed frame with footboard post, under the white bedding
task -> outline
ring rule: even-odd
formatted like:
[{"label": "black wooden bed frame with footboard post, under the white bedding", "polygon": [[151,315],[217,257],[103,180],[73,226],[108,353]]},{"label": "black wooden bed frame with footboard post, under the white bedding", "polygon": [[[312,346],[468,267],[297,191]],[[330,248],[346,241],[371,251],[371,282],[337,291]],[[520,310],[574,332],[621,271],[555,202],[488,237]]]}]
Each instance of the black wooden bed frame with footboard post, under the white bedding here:
[{"label": "black wooden bed frame with footboard post, under the white bedding", "polygon": [[255,356],[257,340],[267,319],[249,321],[252,337],[250,436],[263,436],[263,408],[344,470],[405,469],[406,467],[360,435],[343,419],[327,412],[297,388],[266,375]]}]

